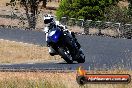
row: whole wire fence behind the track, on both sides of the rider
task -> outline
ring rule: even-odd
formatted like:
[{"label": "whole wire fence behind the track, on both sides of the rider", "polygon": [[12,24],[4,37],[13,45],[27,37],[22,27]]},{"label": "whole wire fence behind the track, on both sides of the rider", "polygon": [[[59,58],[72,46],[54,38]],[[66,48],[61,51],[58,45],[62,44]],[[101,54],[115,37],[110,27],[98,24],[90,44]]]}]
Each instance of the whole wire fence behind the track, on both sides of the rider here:
[{"label": "whole wire fence behind the track, on both sides of the rider", "polygon": [[[1,10],[0,11],[0,27],[10,27],[10,28],[22,28],[26,29],[28,27],[28,21],[26,14],[22,11],[17,10]],[[43,29],[43,15],[45,12],[38,12],[38,19],[36,29]],[[2,21],[2,19],[4,21]],[[6,22],[5,22],[6,21]],[[2,23],[3,22],[3,23]],[[67,19],[62,17],[60,22],[63,25],[68,25],[68,28],[84,34],[93,35],[107,35],[114,37],[131,37],[132,35],[132,24],[121,24],[114,22],[104,22],[104,21],[92,21],[75,18]]]}]

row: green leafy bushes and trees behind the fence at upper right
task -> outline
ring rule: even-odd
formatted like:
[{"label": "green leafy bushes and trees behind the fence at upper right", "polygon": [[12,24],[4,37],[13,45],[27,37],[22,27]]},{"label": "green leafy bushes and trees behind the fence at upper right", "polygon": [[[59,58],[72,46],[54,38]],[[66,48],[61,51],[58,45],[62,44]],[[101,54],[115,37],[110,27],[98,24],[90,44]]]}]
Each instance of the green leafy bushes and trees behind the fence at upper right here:
[{"label": "green leafy bushes and trees behind the fence at upper right", "polygon": [[84,20],[101,20],[121,23],[132,23],[132,0],[128,8],[120,8],[122,0],[63,0],[57,10],[57,17]]}]

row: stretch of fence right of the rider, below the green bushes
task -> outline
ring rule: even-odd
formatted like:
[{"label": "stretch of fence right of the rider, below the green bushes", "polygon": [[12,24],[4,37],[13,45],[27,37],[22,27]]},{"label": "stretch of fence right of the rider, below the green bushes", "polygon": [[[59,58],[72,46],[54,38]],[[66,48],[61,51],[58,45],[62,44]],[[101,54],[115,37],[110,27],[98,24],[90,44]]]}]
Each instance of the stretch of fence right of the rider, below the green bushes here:
[{"label": "stretch of fence right of the rider, below the green bushes", "polygon": [[131,37],[132,35],[132,24],[92,20],[84,21],[83,19],[67,19],[66,17],[62,17],[60,21],[63,25],[80,28],[80,30],[83,30],[85,34],[107,35],[113,37],[127,38]]}]

